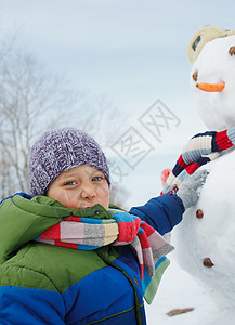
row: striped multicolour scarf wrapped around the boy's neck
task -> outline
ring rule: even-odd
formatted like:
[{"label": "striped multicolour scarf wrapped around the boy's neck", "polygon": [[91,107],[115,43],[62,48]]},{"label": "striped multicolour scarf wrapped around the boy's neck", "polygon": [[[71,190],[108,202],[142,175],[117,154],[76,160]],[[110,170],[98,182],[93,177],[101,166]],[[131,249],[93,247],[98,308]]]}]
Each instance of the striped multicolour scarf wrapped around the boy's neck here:
[{"label": "striped multicolour scarf wrapped around the boy's neck", "polygon": [[166,260],[165,255],[173,250],[173,246],[146,222],[123,211],[114,213],[112,219],[69,217],[47,229],[36,240],[80,250],[109,244],[130,245],[139,261],[144,290],[155,275],[159,283],[161,275],[156,271],[162,269],[160,264]]}]

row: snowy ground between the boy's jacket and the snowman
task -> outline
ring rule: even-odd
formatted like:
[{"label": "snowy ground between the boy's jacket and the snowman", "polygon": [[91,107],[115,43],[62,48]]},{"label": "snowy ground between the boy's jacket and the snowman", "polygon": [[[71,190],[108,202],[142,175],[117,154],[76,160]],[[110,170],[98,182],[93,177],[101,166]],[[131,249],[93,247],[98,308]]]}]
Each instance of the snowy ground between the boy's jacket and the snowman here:
[{"label": "snowy ground between the boy's jacket and the snowman", "polygon": [[[178,265],[173,253],[158,292],[151,306],[145,306],[148,325],[234,325],[235,312],[219,309],[203,285]],[[168,316],[172,309],[194,308],[192,312]]]}]

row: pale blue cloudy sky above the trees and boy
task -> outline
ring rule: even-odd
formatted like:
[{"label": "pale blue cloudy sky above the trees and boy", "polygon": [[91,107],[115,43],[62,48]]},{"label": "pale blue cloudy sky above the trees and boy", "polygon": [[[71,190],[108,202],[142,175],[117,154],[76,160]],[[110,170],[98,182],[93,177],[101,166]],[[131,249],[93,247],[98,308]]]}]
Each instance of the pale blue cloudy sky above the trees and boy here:
[{"label": "pale blue cloudy sky above the trees and boy", "polygon": [[145,198],[158,192],[162,167],[205,128],[191,95],[187,42],[205,25],[235,29],[234,12],[232,0],[0,0],[0,30],[17,30],[52,72],[107,96],[120,114],[129,112],[125,128],[136,128],[149,142],[138,119],[156,100],[179,117],[181,123],[134,170],[126,166],[134,187],[156,180],[156,187],[135,193]]}]

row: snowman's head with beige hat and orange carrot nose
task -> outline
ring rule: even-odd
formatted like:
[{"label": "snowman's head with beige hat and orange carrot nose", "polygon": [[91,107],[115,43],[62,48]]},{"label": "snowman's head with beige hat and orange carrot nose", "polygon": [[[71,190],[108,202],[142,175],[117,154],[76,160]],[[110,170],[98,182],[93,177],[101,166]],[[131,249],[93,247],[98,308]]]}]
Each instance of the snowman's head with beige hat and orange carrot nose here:
[{"label": "snowman's head with beige hat and orange carrot nose", "polygon": [[191,88],[199,115],[212,130],[235,126],[235,31],[207,26],[192,38]]}]

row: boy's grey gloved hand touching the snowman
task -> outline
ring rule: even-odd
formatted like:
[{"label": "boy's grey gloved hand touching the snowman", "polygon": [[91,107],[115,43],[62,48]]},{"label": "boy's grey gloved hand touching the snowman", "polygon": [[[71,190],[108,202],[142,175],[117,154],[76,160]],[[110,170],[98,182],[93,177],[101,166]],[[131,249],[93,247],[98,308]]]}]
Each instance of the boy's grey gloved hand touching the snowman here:
[{"label": "boy's grey gloved hand touching the snowman", "polygon": [[198,170],[182,182],[177,195],[182,199],[185,210],[195,206],[199,198],[199,190],[206,182],[208,172]]}]

